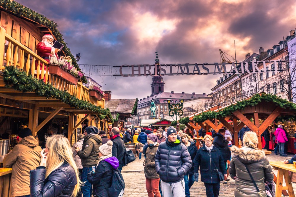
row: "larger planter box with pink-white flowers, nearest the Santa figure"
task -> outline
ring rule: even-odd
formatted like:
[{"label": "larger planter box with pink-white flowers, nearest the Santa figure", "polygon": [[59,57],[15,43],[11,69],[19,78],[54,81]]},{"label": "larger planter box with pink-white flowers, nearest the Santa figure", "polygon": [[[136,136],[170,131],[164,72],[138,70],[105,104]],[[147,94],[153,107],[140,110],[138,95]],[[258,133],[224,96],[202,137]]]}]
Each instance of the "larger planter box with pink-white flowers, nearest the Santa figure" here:
[{"label": "larger planter box with pink-white flowers, nearest the Santa figure", "polygon": [[69,84],[77,85],[78,79],[83,77],[83,73],[78,71],[74,66],[65,59],[57,56],[49,57],[49,73],[53,76],[66,80]]}]

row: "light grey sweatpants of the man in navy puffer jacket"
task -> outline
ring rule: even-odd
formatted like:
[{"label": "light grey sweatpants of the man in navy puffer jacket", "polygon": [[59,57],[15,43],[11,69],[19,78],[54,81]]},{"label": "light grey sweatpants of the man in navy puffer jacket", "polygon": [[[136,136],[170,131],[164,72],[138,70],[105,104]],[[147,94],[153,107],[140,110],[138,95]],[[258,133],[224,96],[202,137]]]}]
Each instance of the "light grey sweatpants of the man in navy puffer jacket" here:
[{"label": "light grey sweatpants of the man in navy puffer jacket", "polygon": [[184,179],[177,183],[165,183],[161,181],[160,185],[163,197],[185,197]]}]

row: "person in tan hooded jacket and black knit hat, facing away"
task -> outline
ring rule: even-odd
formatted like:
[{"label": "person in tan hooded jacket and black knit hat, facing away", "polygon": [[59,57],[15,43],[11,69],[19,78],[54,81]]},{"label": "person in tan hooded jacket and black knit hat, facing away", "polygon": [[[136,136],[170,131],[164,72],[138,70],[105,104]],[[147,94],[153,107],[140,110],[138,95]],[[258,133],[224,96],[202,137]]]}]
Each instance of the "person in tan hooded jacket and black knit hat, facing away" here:
[{"label": "person in tan hooded jacket and black knit hat, facing away", "polygon": [[11,196],[30,196],[30,170],[39,166],[42,149],[27,126],[20,127],[17,139],[18,144],[3,159],[3,166],[12,167]]}]

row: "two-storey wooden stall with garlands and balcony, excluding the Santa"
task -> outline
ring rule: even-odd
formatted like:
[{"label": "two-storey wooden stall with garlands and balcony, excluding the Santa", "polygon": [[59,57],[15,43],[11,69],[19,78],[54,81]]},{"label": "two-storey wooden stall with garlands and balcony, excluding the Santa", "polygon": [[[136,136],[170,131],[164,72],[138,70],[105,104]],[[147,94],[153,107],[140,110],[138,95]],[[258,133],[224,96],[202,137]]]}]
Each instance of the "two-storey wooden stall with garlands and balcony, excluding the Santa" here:
[{"label": "two-storey wooden stall with garlands and balcony, excluding the Santa", "polygon": [[[54,75],[54,65],[37,55],[36,45],[44,34],[63,43],[58,55],[69,56],[80,70],[56,23],[15,1],[0,4],[0,134],[6,129],[17,133],[20,124],[27,124],[37,137],[54,124],[58,133],[74,143],[84,121],[102,128],[113,120],[104,109],[104,99],[91,96],[83,85],[84,77],[75,78],[66,70],[61,72],[70,73],[71,78]],[[11,171],[1,170],[0,194],[8,196],[4,183],[9,182]]]}]

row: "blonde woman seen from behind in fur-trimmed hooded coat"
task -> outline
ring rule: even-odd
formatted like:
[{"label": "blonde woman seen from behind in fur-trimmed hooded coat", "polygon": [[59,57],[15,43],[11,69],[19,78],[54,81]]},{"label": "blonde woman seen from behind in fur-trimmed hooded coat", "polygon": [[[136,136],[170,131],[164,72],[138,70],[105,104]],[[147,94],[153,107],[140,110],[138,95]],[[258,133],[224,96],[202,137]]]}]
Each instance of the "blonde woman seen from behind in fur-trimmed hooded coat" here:
[{"label": "blonde woman seen from behind in fur-trimmed hooded coat", "polygon": [[[232,160],[229,167],[229,175],[235,180],[234,196],[260,196],[247,172],[245,165],[250,170],[260,193],[266,197],[265,183],[273,182],[274,175],[264,151],[257,149],[258,138],[254,132],[246,132],[243,138],[243,147],[231,147]],[[245,165],[244,165],[245,164]]]}]

